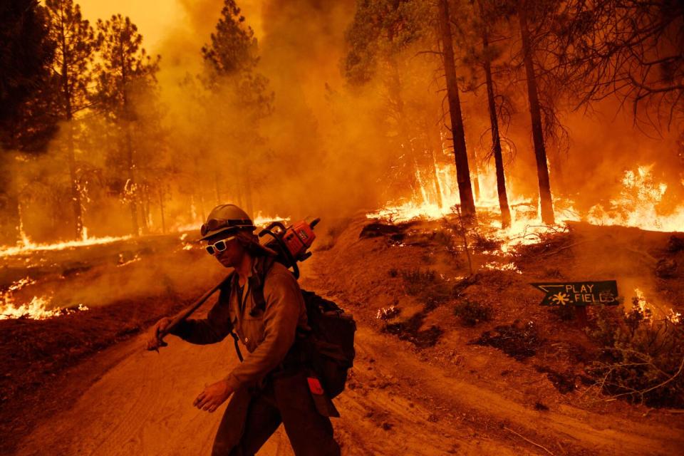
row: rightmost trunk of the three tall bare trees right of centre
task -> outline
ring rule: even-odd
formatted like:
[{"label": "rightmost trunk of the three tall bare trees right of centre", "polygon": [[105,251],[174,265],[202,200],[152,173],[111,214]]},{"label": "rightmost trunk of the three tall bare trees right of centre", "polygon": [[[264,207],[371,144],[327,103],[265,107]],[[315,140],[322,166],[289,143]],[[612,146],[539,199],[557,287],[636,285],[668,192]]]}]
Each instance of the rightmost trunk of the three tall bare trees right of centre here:
[{"label": "rightmost trunk of the three tall bare trees right of centre", "polygon": [[518,1],[518,19],[522,38],[522,52],[524,55],[525,73],[527,75],[527,97],[529,98],[529,115],[532,118],[532,140],[534,142],[534,157],[537,159],[537,179],[539,180],[539,203],[541,204],[541,221],[554,224],[554,203],[551,200],[551,183],[549,182],[549,167],[546,165],[546,149],[544,148],[544,130],[541,127],[541,108],[537,92],[537,76],[534,73],[532,61],[532,45],[529,41],[527,28],[527,1]]}]

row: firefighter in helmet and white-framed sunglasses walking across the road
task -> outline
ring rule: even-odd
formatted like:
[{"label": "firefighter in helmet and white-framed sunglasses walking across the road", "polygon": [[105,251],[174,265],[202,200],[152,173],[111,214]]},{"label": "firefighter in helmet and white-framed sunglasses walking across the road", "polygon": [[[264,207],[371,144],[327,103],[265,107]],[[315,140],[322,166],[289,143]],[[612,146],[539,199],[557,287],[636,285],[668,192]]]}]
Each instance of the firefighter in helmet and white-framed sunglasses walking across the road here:
[{"label": "firefighter in helmet and white-framed sunglasses walking across the road", "polygon": [[[314,404],[297,343],[297,335],[308,329],[299,284],[285,266],[269,261],[275,252],[259,244],[254,229],[247,213],[233,204],[212,209],[202,225],[207,252],[236,274],[222,286],[207,318],[186,320],[171,333],[190,343],[207,344],[234,331],[249,354],[227,377],[204,388],[192,404],[212,413],[231,398],[212,456],[254,455],[280,423],[296,455],[339,455],[330,418]],[[255,286],[263,289],[264,309],[250,292]],[[148,348],[162,345],[158,335],[169,323],[170,318],[157,322]]]}]

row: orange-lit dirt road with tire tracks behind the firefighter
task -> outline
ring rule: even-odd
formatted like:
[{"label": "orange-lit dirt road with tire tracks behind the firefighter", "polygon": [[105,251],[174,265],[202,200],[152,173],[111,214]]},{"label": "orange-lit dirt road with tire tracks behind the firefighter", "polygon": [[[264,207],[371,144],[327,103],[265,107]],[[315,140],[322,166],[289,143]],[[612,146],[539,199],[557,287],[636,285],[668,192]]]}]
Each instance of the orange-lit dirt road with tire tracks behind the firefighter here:
[{"label": "orange-lit dirt road with tire tracks behind the firefighter", "polygon": [[[120,347],[123,361],[17,454],[208,455],[224,407],[204,413],[192,399],[229,371],[232,343],[170,342],[158,355],[142,351],[142,338]],[[364,328],[351,385],[335,421],[346,455],[675,455],[684,445],[681,432],[638,419],[532,410],[504,388],[450,378],[401,341]],[[282,427],[259,452],[291,454]]]}]

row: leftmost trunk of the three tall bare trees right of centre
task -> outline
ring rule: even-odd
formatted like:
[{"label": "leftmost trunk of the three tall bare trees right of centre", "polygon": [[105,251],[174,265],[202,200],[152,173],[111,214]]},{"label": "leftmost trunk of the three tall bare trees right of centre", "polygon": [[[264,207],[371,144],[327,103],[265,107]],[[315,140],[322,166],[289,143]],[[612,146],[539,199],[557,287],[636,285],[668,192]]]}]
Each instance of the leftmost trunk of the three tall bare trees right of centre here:
[{"label": "leftmost trunk of the three tall bare trees right of centre", "polygon": [[439,7],[439,21],[440,28],[442,29],[442,57],[444,58],[444,71],[447,79],[447,98],[449,100],[451,132],[454,142],[456,180],[458,182],[462,214],[467,219],[467,222],[471,223],[475,221],[475,201],[472,198],[472,187],[470,185],[470,167],[468,167],[468,154],[465,148],[465,131],[463,129],[461,104],[458,95],[458,81],[456,79],[454,48],[451,38],[447,0],[440,0]]}]

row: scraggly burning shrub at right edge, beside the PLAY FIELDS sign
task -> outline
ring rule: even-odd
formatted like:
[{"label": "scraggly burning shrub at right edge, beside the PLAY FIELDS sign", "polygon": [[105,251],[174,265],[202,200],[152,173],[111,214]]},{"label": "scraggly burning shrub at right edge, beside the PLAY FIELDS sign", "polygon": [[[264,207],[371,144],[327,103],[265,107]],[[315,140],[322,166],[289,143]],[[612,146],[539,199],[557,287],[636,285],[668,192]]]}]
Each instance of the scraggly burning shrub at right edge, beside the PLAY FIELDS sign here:
[{"label": "scraggly burning shrub at right edge, beside the PLAY FIELDS sign", "polygon": [[603,393],[651,406],[684,407],[684,327],[656,319],[638,293],[626,314],[598,308],[589,336],[601,346],[586,369]]}]

